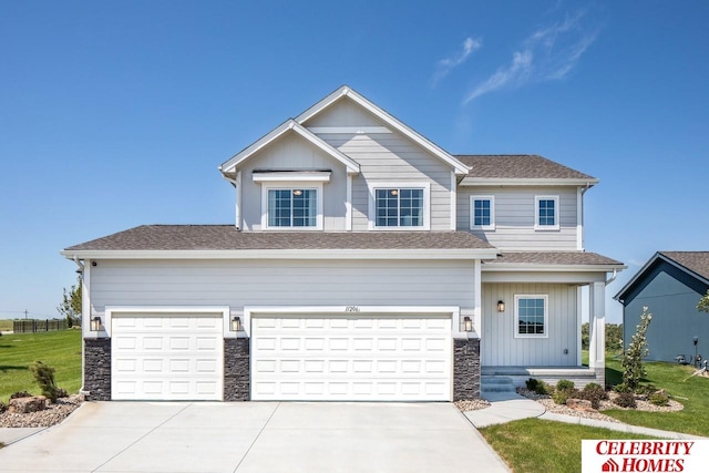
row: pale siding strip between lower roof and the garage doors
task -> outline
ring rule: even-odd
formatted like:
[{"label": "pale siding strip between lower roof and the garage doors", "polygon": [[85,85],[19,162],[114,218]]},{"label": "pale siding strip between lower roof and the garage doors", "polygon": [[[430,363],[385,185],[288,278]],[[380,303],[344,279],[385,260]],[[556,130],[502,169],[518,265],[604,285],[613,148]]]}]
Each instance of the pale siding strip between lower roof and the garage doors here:
[{"label": "pale siding strip between lower roof and the garage doors", "polygon": [[472,308],[474,282],[472,261],[101,260],[91,304],[92,317],[105,306]]}]

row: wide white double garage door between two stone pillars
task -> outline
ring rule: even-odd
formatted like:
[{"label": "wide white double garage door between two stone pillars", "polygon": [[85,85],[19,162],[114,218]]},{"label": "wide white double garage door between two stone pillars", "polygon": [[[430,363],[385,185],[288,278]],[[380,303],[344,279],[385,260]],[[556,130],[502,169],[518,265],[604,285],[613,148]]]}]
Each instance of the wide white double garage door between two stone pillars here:
[{"label": "wide white double garage door between two stone pillars", "polygon": [[451,318],[256,316],[251,399],[451,400]]}]

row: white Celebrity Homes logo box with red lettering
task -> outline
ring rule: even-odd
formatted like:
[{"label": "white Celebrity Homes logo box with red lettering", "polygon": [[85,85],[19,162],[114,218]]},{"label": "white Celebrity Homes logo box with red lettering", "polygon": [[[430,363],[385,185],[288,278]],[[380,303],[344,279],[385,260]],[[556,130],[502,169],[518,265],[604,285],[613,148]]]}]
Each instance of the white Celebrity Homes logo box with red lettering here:
[{"label": "white Celebrity Homes logo box with red lettering", "polygon": [[706,472],[709,440],[583,440],[582,473]]}]

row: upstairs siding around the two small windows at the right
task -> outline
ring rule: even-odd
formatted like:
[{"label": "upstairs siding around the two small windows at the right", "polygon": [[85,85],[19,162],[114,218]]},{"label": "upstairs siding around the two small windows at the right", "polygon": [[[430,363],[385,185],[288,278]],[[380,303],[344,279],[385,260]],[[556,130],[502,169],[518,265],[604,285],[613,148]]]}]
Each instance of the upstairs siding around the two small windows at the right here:
[{"label": "upstairs siding around the two small windows at the right", "polygon": [[[458,229],[470,230],[472,195],[494,196],[495,229],[472,233],[506,250],[577,250],[576,187],[462,187],[458,192]],[[535,196],[559,197],[559,229],[535,230]]]}]

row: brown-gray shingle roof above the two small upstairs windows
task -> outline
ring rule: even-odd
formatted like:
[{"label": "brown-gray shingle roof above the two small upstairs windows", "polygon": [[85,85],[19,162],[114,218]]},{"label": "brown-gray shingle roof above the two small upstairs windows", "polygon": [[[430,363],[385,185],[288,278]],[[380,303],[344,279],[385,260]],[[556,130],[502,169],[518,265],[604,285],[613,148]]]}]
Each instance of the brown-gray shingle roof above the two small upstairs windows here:
[{"label": "brown-gray shingle roof above the two small upstairs windows", "polygon": [[472,167],[469,177],[486,178],[555,178],[589,179],[587,174],[555,163],[536,154],[505,155],[456,155],[463,164]]}]

